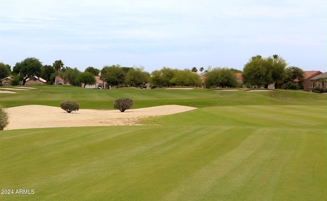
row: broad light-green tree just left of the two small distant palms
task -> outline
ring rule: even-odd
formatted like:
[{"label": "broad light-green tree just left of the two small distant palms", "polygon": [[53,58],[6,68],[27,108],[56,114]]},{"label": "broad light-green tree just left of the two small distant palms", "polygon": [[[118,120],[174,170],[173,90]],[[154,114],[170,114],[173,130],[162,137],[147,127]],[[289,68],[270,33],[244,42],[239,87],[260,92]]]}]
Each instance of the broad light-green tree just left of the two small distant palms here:
[{"label": "broad light-green tree just left of the two small distant palms", "polygon": [[178,86],[199,86],[201,79],[197,73],[189,69],[175,69],[175,76],[171,79],[171,83]]}]

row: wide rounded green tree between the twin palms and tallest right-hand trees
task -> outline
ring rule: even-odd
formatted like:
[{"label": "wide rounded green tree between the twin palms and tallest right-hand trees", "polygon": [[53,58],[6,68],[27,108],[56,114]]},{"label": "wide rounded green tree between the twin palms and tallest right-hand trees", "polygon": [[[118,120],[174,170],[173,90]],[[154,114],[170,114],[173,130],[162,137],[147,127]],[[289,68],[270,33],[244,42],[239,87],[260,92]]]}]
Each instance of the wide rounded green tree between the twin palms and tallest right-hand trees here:
[{"label": "wide rounded green tree between the twin palms and tallest right-hand trees", "polygon": [[213,68],[206,73],[205,83],[215,87],[238,87],[236,74],[229,68]]}]

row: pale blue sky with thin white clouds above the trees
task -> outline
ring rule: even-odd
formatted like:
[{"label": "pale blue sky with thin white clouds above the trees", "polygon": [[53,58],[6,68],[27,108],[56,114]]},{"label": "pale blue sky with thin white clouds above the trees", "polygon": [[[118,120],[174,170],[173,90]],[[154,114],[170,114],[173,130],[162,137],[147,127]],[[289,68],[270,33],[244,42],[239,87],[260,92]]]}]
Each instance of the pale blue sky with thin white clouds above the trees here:
[{"label": "pale blue sky with thin white clouds above the trees", "polygon": [[274,54],[327,71],[325,0],[0,0],[0,62],[228,67]]}]

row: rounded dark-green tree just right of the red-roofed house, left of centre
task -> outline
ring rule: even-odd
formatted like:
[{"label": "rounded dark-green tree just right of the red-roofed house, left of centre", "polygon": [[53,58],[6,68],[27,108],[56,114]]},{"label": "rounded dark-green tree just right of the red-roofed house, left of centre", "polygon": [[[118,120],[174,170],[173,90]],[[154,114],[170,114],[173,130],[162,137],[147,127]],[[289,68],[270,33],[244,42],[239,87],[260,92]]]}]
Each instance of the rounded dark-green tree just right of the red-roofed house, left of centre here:
[{"label": "rounded dark-green tree just right of the red-roofed house, left of centre", "polygon": [[125,83],[126,72],[121,65],[104,66],[101,70],[104,81],[109,85],[121,85]]}]

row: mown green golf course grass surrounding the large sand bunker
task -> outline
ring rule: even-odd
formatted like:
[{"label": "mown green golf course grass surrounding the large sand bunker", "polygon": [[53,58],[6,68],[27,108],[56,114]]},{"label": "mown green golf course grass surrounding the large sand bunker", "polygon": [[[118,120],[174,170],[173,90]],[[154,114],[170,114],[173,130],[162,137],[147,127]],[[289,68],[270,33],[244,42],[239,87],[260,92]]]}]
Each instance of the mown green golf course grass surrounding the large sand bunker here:
[{"label": "mown green golf course grass surrounding the large sand bunker", "polygon": [[129,97],[134,108],[199,109],[142,126],[2,131],[1,189],[35,193],[1,200],[327,199],[325,94],[37,87],[0,94],[0,104],[59,107],[69,97],[81,109],[112,109]]}]

